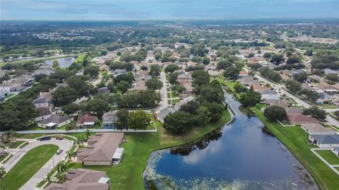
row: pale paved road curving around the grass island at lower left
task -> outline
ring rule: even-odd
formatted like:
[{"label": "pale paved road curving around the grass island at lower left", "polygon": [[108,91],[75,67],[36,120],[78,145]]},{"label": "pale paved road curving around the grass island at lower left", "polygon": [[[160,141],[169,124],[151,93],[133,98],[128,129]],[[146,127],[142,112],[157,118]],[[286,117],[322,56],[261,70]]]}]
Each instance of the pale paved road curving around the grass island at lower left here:
[{"label": "pale paved road curving around the grass island at lower left", "polygon": [[[25,141],[25,139],[20,139],[18,138],[18,141]],[[60,155],[54,155],[50,160],[48,160],[46,162],[46,164],[44,166],[42,166],[42,168],[40,168],[39,171],[37,171],[37,173],[35,173],[29,180],[28,182],[26,182],[23,186],[21,186],[20,189],[23,190],[31,190],[34,189],[35,186],[41,182],[44,177],[47,176],[48,172],[50,172],[53,169],[53,161],[54,161],[54,165],[57,165],[57,163],[60,160],[63,160],[66,156],[66,152],[71,149],[71,147],[73,146],[72,141],[69,140],[56,140],[55,138],[52,138],[52,140],[50,141],[34,141],[32,139],[30,139],[30,143],[28,144],[28,146],[25,146],[24,148],[17,148],[17,149],[11,149],[11,153],[13,154],[12,158],[10,160],[8,160],[5,164],[4,164],[4,168],[5,171],[8,172],[11,170],[11,168],[16,165],[16,163],[23,158],[23,156],[25,155],[25,153],[27,153],[29,150],[31,150],[32,148],[35,148],[37,146],[42,146],[42,145],[48,145],[48,144],[53,144],[56,146],[59,146],[59,149],[64,150]]]}]

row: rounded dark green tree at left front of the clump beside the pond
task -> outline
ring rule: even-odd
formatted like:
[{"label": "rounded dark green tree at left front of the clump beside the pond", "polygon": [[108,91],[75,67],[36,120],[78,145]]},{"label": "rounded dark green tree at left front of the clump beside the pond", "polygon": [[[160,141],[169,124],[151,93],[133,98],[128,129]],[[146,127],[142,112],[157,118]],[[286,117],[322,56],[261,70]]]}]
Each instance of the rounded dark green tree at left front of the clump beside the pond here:
[{"label": "rounded dark green tree at left front of the clump beside the pond", "polygon": [[192,128],[191,114],[184,111],[168,114],[163,126],[172,133],[184,134]]}]

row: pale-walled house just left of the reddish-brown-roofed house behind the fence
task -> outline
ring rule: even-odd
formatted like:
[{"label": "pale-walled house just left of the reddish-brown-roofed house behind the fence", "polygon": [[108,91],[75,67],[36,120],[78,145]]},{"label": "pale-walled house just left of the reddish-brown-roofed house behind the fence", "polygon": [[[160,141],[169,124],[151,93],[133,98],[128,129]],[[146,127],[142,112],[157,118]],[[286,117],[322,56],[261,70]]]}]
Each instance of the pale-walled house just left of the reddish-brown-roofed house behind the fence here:
[{"label": "pale-walled house just left of the reddish-brown-roofed house behind the fence", "polygon": [[68,115],[66,116],[52,115],[52,117],[37,121],[37,126],[40,126],[45,129],[56,129],[71,123],[72,120],[73,117],[70,117]]}]

